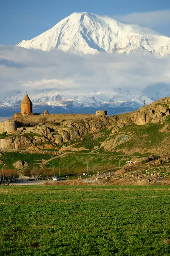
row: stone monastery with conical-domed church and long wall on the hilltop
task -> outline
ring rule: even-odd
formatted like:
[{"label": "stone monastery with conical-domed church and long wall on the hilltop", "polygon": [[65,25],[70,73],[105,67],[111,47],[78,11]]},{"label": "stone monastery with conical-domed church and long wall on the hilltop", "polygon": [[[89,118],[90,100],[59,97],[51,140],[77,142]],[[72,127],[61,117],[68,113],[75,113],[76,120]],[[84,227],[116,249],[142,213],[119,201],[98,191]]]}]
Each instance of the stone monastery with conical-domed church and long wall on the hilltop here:
[{"label": "stone monastery with conical-domed church and long wall on the hilltop", "polygon": [[[0,133],[20,133],[22,129],[30,130],[38,124],[61,122],[62,120],[85,119],[95,116],[106,116],[107,111],[96,111],[96,114],[50,114],[47,109],[44,113],[33,113],[33,104],[27,93],[21,102],[20,113],[15,113],[11,119],[0,122]],[[31,131],[31,130],[30,130]]]}]

